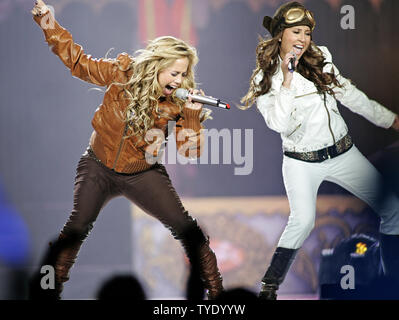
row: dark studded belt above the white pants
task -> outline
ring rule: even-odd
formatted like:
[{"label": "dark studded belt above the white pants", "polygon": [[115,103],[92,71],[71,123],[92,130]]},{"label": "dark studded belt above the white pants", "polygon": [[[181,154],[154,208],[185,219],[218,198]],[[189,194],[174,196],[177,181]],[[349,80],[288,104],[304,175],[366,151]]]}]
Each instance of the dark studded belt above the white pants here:
[{"label": "dark studded belt above the white pants", "polygon": [[345,153],[350,148],[352,148],[353,142],[349,134],[337,141],[334,145],[309,152],[290,152],[285,151],[284,155],[297,160],[302,160],[306,162],[323,162],[327,159],[335,158],[340,154]]}]

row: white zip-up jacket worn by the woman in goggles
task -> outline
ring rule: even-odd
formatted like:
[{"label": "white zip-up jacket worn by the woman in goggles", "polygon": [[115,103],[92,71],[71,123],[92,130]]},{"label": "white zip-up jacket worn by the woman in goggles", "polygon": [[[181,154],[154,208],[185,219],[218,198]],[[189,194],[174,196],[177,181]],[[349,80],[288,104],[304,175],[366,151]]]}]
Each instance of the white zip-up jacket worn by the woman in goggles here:
[{"label": "white zip-up jacket worn by the woman in goggles", "polygon": [[[332,63],[328,49],[319,48],[326,62],[329,62],[323,71],[331,72],[333,67],[339,83],[343,85],[342,88],[334,89],[337,100],[375,125],[389,128],[395,120],[395,113],[370,100],[348,79],[342,77]],[[261,71],[254,79],[255,84],[258,85],[262,78]],[[287,89],[282,86],[283,79],[283,72],[278,66],[270,91],[258,97],[257,107],[267,126],[281,134],[284,151],[319,150],[333,145],[347,134],[348,127],[339,113],[334,97],[326,94],[325,106],[323,95],[317,93],[313,82],[294,72],[291,87]]]}]

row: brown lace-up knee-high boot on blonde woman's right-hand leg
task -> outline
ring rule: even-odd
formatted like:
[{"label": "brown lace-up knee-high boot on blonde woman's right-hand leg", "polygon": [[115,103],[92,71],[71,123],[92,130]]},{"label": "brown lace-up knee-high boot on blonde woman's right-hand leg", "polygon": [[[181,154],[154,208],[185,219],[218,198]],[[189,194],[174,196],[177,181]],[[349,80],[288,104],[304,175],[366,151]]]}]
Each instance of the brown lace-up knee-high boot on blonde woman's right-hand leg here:
[{"label": "brown lace-up knee-high boot on blonde woman's right-hand leg", "polygon": [[200,276],[205,289],[208,290],[208,299],[216,299],[223,292],[222,276],[217,266],[216,255],[209,246],[209,239],[194,223],[182,234],[175,236],[185,249],[193,272]]}]

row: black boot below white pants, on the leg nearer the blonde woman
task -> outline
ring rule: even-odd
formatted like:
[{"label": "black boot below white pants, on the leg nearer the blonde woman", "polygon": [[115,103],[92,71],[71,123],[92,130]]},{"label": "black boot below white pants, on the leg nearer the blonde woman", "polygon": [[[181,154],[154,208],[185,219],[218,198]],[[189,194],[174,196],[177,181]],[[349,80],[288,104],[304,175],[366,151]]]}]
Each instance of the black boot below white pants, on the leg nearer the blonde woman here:
[{"label": "black boot below white pants, on the leg nearer the blonde woman", "polygon": [[298,249],[287,249],[278,247],[273,254],[272,261],[262,278],[262,288],[259,293],[259,299],[276,300],[279,285],[291,267]]}]

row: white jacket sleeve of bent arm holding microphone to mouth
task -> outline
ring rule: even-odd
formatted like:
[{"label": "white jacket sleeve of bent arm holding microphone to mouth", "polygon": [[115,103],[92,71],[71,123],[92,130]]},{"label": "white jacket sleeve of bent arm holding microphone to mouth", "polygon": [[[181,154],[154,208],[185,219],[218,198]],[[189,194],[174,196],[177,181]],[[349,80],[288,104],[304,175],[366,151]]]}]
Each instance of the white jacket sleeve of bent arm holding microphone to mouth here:
[{"label": "white jacket sleeve of bent arm holding microphone to mouth", "polygon": [[270,91],[257,98],[258,110],[265,119],[266,125],[278,133],[286,134],[290,128],[290,116],[296,95],[295,88],[286,88],[279,84],[279,88],[271,88]]}]

